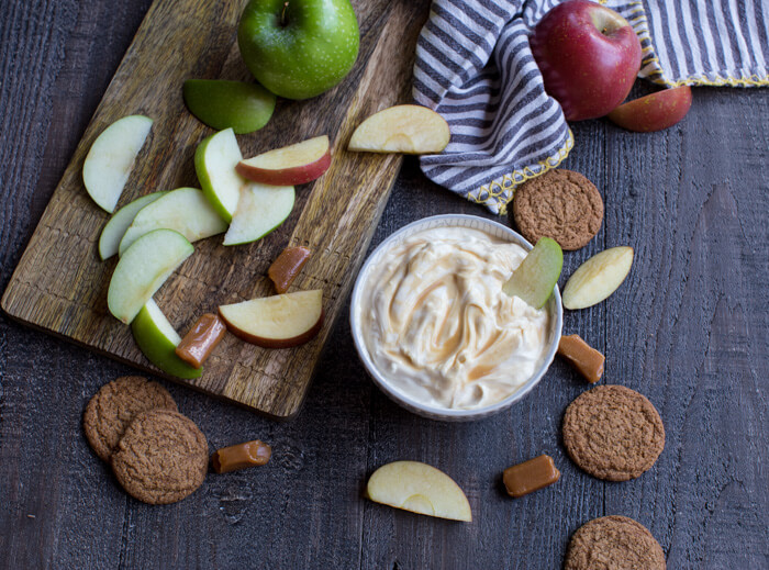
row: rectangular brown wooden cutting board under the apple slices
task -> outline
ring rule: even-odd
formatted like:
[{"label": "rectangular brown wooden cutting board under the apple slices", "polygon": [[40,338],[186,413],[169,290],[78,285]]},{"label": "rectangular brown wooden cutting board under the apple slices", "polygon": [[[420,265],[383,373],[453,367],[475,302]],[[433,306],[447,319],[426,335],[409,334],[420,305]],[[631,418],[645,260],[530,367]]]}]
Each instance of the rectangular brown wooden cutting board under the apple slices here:
[{"label": "rectangular brown wooden cutting board under the apple slices", "polygon": [[[141,113],[155,120],[120,205],[157,190],[199,187],[198,143],[213,131],[185,108],[188,78],[250,80],[235,41],[246,0],[156,0],[129,47],[56,188],[2,298],[12,317],[98,353],[163,376],[140,353],[130,327],[107,309],[115,259],[101,261],[99,234],[109,215],[88,197],[82,161],[113,121]],[[354,0],[360,53],[332,91],[308,101],[279,100],[269,124],[238,136],[244,156],[327,134],[333,161],[313,185],[297,189],[283,225],[254,244],[224,247],[222,236],[194,244],[194,254],[155,294],[183,336],[218,305],[274,294],[267,268],[287,246],[313,255],[292,290],[322,288],[326,318],[310,343],[269,350],[227,335],[202,378],[178,380],[275,418],[300,410],[324,343],[342,312],[363,256],[398,175],[394,155],[345,150],[369,114],[409,101],[414,47],[427,0]]]}]

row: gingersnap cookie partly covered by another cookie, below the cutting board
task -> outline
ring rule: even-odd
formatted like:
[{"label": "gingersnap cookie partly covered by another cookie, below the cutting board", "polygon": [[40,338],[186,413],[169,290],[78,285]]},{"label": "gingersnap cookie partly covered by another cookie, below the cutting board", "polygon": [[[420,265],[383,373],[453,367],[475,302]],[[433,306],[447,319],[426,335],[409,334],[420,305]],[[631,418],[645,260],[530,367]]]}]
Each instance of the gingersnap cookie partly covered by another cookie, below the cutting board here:
[{"label": "gingersnap cookie partly covered by another cookie, below the cutting board", "polygon": [[102,385],[88,402],[82,416],[86,438],[96,455],[107,461],[131,420],[156,407],[178,411],[171,394],[157,382],[140,376],[118,378]]}]

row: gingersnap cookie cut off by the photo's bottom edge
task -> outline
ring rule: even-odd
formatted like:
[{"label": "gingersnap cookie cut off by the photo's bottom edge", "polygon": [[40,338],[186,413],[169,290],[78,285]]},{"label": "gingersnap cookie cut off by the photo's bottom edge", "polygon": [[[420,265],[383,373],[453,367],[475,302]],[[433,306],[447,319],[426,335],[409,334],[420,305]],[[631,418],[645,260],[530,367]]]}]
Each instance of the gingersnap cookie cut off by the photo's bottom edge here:
[{"label": "gingersnap cookie cut off by the photo's bottom edge", "polygon": [[602,516],[581,526],[566,552],[566,570],[665,570],[665,552],[644,525]]}]

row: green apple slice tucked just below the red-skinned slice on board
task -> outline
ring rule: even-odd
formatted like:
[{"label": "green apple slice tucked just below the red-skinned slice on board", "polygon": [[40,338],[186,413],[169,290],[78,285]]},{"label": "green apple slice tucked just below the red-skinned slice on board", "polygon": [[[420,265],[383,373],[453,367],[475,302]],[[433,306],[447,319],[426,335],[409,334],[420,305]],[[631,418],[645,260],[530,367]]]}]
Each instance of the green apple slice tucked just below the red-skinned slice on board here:
[{"label": "green apple slice tucked just below the red-skinned slice on board", "polygon": [[294,198],[292,186],[246,183],[224,245],[247,244],[269,234],[289,216]]}]

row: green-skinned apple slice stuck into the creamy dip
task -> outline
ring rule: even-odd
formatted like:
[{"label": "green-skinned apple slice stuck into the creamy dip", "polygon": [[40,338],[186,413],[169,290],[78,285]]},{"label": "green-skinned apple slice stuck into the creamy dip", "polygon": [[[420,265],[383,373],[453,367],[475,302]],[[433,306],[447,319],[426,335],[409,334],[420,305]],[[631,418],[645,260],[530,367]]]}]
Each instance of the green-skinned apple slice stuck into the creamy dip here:
[{"label": "green-skinned apple slice stuck into the creamy dip", "polygon": [[542,237],[502,286],[502,291],[523,299],[535,309],[542,309],[553,294],[562,267],[564,252],[558,243]]}]

